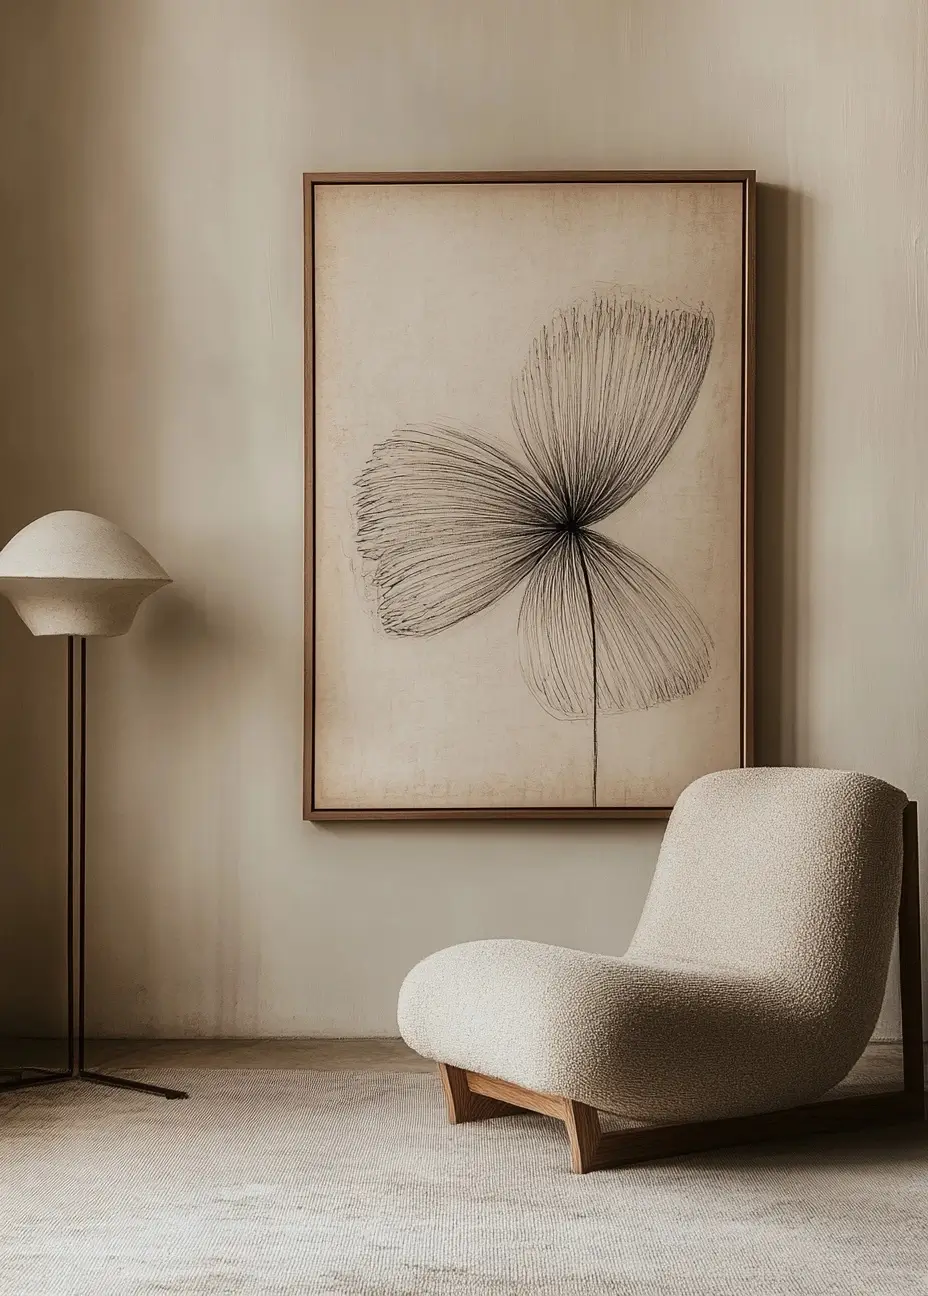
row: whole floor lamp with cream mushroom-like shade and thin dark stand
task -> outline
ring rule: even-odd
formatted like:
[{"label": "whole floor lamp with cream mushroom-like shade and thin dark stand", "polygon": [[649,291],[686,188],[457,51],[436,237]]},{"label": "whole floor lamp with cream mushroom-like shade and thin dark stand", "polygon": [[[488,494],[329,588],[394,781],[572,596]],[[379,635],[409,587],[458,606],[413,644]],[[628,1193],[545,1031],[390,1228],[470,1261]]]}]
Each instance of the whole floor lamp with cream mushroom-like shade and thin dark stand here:
[{"label": "whole floor lamp with cream mushroom-like shade and thin dark stand", "polygon": [[124,635],[143,600],[170,583],[148,550],[93,513],[48,513],[0,551],[0,592],[34,635],[67,638],[67,1070],[27,1068],[32,1074],[22,1070],[0,1081],[0,1091],[91,1081],[187,1098],[179,1089],[106,1076],[84,1064],[87,640]]}]

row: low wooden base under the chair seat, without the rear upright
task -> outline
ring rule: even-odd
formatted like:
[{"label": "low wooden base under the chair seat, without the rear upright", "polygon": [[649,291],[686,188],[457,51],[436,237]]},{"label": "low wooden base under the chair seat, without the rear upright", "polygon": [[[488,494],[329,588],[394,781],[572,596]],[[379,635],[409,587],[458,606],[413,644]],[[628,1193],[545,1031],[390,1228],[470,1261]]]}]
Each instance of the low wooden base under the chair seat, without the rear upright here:
[{"label": "low wooden base under the chair seat, without the rear upright", "polygon": [[871,1125],[898,1125],[925,1118],[924,1091],[902,1090],[866,1098],[836,1098],[760,1116],[604,1130],[599,1112],[586,1103],[556,1094],[538,1094],[505,1080],[446,1067],[443,1063],[439,1064],[438,1073],[452,1125],[483,1121],[493,1116],[516,1116],[526,1111],[563,1121],[570,1143],[570,1168],[574,1174],[662,1156],[736,1147],[741,1143],[853,1131]]}]

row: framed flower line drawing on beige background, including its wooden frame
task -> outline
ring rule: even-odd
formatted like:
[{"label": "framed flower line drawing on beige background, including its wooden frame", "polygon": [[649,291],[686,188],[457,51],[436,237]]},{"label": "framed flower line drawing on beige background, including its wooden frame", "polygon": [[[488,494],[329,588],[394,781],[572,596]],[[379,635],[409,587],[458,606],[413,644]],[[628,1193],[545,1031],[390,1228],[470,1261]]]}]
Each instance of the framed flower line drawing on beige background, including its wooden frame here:
[{"label": "framed flower line drawing on beige background, including its wooden frame", "polygon": [[752,762],[754,175],[307,175],[310,819]]}]

